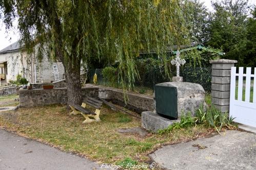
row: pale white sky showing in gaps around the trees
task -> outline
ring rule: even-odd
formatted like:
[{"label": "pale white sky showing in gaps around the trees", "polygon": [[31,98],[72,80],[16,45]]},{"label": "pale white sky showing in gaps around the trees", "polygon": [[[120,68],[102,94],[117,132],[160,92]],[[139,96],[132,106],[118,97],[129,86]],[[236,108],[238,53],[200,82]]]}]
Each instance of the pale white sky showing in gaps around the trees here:
[{"label": "pale white sky showing in gaps around the trees", "polygon": [[[209,10],[213,10],[211,7],[211,0],[200,0],[201,2],[205,3],[205,6]],[[256,0],[249,0],[250,4],[256,5]],[[19,34],[17,31],[17,21],[14,22],[14,28],[12,28],[8,33],[6,33],[5,25],[0,20],[0,50],[5,48],[6,46],[10,45],[13,42],[16,42],[19,38]]]}]

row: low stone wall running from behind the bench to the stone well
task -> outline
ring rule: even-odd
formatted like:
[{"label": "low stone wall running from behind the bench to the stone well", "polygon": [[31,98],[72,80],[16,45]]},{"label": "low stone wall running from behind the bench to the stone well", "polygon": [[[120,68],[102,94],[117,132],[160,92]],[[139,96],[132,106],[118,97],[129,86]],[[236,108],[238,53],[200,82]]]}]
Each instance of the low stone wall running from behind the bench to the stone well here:
[{"label": "low stone wall running from behind the bench to the stone well", "polygon": [[124,91],[122,89],[103,86],[96,87],[99,87],[99,98],[111,100],[113,103],[126,106],[136,112],[154,110],[153,96],[128,92],[126,93],[128,99],[125,104]]}]

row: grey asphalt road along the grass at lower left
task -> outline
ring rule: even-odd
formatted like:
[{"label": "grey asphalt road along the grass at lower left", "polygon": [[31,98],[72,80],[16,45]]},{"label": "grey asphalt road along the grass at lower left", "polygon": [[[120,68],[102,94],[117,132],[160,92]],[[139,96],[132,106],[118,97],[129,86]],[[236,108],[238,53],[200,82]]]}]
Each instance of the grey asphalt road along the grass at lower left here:
[{"label": "grey asphalt road along the grass at lower left", "polygon": [[0,129],[0,169],[101,169],[99,164]]}]

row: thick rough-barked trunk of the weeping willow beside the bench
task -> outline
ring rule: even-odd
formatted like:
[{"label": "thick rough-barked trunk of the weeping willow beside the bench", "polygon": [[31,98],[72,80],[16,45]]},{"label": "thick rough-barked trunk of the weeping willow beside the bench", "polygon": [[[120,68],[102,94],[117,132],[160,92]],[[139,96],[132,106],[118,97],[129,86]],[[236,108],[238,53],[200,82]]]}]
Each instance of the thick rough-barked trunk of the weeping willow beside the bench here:
[{"label": "thick rough-barked trunk of the weeping willow beside the bench", "polygon": [[68,90],[68,103],[82,104],[82,88],[80,83],[81,61],[66,65],[66,81]]}]

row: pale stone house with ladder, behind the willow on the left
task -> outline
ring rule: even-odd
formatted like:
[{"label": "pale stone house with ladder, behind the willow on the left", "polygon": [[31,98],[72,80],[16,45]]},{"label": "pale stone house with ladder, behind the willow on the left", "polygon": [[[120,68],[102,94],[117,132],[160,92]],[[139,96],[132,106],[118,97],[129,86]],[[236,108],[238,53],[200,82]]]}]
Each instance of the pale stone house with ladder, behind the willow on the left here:
[{"label": "pale stone house with ladder, behind the willow on the left", "polygon": [[41,83],[42,81],[58,81],[65,78],[64,66],[61,62],[50,62],[44,57],[40,63],[35,53],[28,55],[22,52],[23,46],[14,42],[0,51],[0,78],[2,84],[8,84],[10,80],[16,80],[19,74],[29,83]]}]

